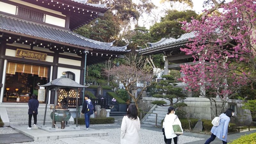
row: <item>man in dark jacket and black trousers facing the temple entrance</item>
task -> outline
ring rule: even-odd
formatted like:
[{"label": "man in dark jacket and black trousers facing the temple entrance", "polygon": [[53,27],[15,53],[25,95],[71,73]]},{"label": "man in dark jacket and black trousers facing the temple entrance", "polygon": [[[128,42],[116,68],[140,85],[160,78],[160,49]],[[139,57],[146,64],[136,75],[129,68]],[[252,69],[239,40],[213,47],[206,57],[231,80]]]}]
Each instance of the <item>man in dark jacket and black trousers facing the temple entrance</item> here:
[{"label": "man in dark jacket and black trousers facing the temple entrance", "polygon": [[31,119],[32,115],[34,117],[34,127],[36,127],[36,117],[38,114],[37,108],[39,106],[39,101],[36,100],[36,95],[32,94],[32,99],[28,100],[28,129],[31,129]]}]

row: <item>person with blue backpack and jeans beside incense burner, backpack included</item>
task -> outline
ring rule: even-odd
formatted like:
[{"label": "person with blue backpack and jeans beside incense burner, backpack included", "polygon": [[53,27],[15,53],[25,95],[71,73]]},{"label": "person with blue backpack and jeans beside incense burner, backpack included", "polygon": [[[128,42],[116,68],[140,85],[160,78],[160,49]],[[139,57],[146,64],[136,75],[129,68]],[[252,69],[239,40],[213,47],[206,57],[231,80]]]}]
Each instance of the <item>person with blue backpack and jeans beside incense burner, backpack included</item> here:
[{"label": "person with blue backpack and jeans beside incense burner, backpack included", "polygon": [[97,114],[96,109],[92,104],[92,101],[89,99],[89,95],[86,94],[84,96],[84,104],[83,109],[81,111],[81,113],[84,114],[84,123],[86,126],[86,130],[89,130],[90,116],[93,114],[93,111],[95,112],[95,114]]}]

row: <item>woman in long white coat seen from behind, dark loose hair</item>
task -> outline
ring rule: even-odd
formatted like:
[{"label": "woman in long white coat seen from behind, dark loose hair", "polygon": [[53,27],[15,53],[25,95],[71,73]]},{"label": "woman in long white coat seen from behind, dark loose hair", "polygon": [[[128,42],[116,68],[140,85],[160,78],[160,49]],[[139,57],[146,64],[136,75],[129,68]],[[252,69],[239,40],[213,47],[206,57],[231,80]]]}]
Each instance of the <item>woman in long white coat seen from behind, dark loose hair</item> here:
[{"label": "woman in long white coat seen from behind, dark loose hair", "polygon": [[130,105],[121,124],[121,144],[138,144],[139,130],[140,119],[138,117],[137,108],[134,105]]}]

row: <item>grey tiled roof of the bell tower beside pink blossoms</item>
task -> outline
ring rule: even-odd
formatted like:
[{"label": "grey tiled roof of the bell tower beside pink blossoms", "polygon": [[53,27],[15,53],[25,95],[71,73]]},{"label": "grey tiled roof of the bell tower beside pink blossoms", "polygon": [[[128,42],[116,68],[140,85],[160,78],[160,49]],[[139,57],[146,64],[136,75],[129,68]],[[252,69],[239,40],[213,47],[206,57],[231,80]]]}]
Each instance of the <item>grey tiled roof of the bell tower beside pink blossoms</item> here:
[{"label": "grey tiled roof of the bell tower beside pink blossoms", "polygon": [[171,46],[174,44],[180,44],[180,43],[186,43],[189,41],[190,38],[194,38],[195,37],[195,31],[192,31],[190,33],[186,33],[181,35],[178,39],[175,38],[163,38],[160,41],[156,42],[156,43],[148,43],[150,47],[144,48],[144,49],[140,49],[140,50],[136,50],[137,52],[144,52],[147,50],[152,50],[152,49],[157,49],[159,47],[163,47],[163,46]]}]

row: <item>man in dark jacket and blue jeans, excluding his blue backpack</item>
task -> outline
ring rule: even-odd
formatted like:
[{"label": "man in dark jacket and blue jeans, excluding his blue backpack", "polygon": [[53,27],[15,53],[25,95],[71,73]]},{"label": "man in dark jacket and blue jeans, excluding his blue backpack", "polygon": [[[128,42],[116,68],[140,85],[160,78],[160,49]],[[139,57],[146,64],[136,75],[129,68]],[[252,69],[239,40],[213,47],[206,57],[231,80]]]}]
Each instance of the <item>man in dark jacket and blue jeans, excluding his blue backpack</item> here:
[{"label": "man in dark jacket and blue jeans, excluding his blue backpack", "polygon": [[[89,95],[85,95],[84,96],[84,104],[83,104],[83,109],[81,111],[82,114],[84,114],[84,123],[85,123],[85,126],[86,126],[86,130],[89,130],[89,126],[90,126],[90,114],[88,114],[88,111],[87,111],[87,102],[90,104],[92,101],[89,99]],[[95,112],[95,114],[97,113],[96,112],[96,109],[95,109],[95,106],[94,104],[93,105],[93,111]]]}]

